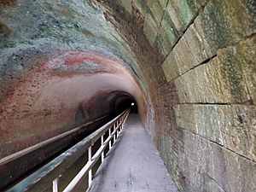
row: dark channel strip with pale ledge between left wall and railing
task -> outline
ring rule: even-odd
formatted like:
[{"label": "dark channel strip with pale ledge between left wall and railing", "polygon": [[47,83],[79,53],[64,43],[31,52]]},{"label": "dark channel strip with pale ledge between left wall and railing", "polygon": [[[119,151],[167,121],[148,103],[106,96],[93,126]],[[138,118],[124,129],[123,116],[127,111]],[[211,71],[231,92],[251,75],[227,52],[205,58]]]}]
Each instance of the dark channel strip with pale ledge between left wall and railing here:
[{"label": "dark channel strip with pale ledge between left wall and railing", "polygon": [[0,191],[5,191],[22,177],[44,165],[44,162],[53,160],[57,155],[66,151],[67,148],[79,143],[84,137],[95,131],[96,128],[106,124],[110,116],[109,113],[105,114],[72,130],[0,159]]}]

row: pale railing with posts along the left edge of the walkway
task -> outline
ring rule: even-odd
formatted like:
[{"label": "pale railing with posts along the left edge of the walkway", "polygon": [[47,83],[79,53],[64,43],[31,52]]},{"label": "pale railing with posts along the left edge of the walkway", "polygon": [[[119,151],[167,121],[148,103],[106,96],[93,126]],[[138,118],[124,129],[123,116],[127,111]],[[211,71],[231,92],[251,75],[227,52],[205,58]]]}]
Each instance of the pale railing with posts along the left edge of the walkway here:
[{"label": "pale railing with posts along the left edge of the walkway", "polygon": [[[125,110],[125,112],[120,113],[116,118],[103,125],[100,129],[90,134],[90,136],[85,137],[81,142],[75,144],[72,148],[67,149],[66,152],[62,153],[54,160],[51,160],[48,164],[38,169],[38,171],[33,172],[28,177],[24,178],[20,183],[15,184],[9,192],[15,191],[44,191],[45,183],[52,182],[53,192],[58,191],[58,178],[63,172],[67,170],[68,167],[72,166],[73,163],[79,159],[79,157],[88,150],[88,161],[86,165],[81,169],[81,171],[73,178],[72,182],[69,183],[64,189],[64,192],[69,192],[74,189],[74,187],[79,183],[80,179],[84,177],[85,174],[89,174],[89,187],[92,182],[92,172],[91,168],[96,164],[96,161],[102,157],[104,160],[104,149],[115,143],[116,138],[119,137],[119,133],[123,130],[125,120],[127,119],[130,110]],[[113,128],[113,132],[111,129]],[[104,141],[104,135],[108,131],[108,138]],[[96,151],[96,154],[92,156],[91,147],[97,140],[101,138],[102,146]],[[111,142],[113,139],[113,143]]]}]

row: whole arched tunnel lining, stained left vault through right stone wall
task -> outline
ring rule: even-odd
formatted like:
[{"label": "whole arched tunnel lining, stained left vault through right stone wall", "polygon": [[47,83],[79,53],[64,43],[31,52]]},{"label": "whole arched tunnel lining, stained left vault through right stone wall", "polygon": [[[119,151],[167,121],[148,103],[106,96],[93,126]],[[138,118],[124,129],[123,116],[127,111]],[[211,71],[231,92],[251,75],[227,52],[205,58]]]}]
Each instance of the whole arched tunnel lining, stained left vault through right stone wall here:
[{"label": "whole arched tunnel lining, stained left vault through right stone wall", "polygon": [[0,0],[0,159],[134,102],[179,191],[255,192],[255,53],[255,0]]}]

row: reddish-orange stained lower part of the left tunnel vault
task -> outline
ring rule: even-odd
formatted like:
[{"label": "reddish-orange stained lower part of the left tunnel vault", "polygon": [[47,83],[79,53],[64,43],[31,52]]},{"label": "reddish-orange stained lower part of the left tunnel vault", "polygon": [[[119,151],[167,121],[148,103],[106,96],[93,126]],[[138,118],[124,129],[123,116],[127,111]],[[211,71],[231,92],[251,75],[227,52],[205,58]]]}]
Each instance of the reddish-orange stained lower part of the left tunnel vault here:
[{"label": "reddish-orange stained lower part of the left tunnel vault", "polygon": [[[94,73],[68,68],[84,61],[94,61],[99,67]],[[101,114],[90,107],[94,108],[94,102],[102,95],[108,98],[114,91],[123,91],[134,96],[139,108],[145,107],[140,86],[119,60],[96,53],[71,51],[55,55],[49,61],[39,59],[34,62],[36,66],[26,72],[22,82],[16,84],[3,101],[0,144],[12,143],[14,149],[9,153],[73,128],[81,104],[84,112],[90,111],[86,113],[86,119],[97,118]],[[67,71],[63,73],[59,66],[67,66]],[[104,102],[111,102],[111,99],[102,100],[102,104]],[[104,105],[101,113],[113,110],[108,103]],[[26,143],[28,138],[29,143]]]}]

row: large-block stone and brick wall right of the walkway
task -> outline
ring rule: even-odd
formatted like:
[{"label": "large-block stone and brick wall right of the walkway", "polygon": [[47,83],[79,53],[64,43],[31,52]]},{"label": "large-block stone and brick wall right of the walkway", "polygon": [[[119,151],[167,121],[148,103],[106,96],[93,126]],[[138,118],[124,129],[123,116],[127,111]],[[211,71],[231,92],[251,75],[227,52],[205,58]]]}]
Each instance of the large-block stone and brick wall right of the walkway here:
[{"label": "large-block stone and brick wall right of the walkway", "polygon": [[153,103],[145,125],[177,188],[255,191],[255,2],[119,0],[118,7],[113,18]]}]

